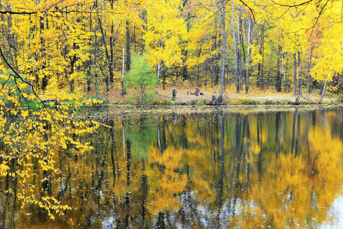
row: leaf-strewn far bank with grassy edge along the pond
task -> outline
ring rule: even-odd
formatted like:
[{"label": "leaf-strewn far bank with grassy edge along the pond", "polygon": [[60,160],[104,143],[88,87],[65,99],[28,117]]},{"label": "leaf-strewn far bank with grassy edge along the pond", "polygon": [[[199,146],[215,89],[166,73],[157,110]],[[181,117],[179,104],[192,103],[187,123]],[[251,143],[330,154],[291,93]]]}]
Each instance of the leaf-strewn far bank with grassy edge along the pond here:
[{"label": "leaf-strewn far bank with grassy edge along the pond", "polygon": [[[194,105],[210,105],[212,96],[218,97],[218,88],[201,89],[203,95],[195,96],[187,94],[190,89],[188,87],[178,87],[176,101],[172,101],[171,88],[167,87],[163,90],[158,88],[158,94],[154,95],[153,101],[149,102],[149,105],[158,106],[194,106]],[[296,105],[296,98],[292,92],[276,92],[274,89],[265,91],[253,90],[249,94],[235,93],[234,88],[227,87],[223,94],[223,106],[233,105]],[[339,96],[326,94],[322,101],[320,99],[320,91],[318,89],[312,91],[309,96],[306,96],[306,91],[303,91],[303,96],[300,96],[300,105],[313,105],[313,104],[330,104],[342,102]],[[86,94],[86,96],[94,96],[93,93]],[[99,93],[99,98],[104,99],[106,103],[114,105],[143,105],[139,104],[140,101],[136,98],[133,92],[128,92],[126,95],[121,95],[119,91],[102,91]]]}]

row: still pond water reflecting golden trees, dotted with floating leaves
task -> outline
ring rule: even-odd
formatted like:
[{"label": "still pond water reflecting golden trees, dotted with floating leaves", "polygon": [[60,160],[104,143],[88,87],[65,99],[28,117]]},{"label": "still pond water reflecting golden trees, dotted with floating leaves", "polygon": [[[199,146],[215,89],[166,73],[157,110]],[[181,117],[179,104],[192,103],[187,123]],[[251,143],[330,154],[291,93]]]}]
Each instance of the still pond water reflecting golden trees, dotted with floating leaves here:
[{"label": "still pond water reflecting golden trees, dotted with floating leaves", "polygon": [[239,109],[85,109],[109,127],[57,152],[63,182],[39,187],[74,225],[1,195],[0,227],[343,228],[342,111]]}]

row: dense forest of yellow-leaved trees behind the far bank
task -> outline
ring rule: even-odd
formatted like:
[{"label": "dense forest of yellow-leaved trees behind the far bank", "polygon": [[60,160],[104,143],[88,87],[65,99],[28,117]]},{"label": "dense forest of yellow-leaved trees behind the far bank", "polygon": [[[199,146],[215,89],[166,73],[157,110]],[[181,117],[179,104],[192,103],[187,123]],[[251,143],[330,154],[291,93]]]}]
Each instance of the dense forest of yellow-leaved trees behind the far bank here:
[{"label": "dense forest of yellow-leaved trees behind the far bank", "polygon": [[[181,85],[219,85],[220,101],[227,86],[339,94],[341,3],[2,0],[2,55],[46,94],[78,88],[144,97]],[[139,79],[143,89],[126,85],[139,67],[153,73]]]}]

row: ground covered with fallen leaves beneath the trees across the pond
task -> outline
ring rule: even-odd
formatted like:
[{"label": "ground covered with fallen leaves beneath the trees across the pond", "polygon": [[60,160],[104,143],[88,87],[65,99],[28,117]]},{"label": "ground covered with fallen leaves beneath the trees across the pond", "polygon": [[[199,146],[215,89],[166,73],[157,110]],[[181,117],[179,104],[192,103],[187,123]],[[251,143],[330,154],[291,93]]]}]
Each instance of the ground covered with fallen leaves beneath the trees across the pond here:
[{"label": "ground covered with fallen leaves beneath the trees across the pond", "polygon": [[[158,95],[154,102],[154,105],[206,105],[212,100],[212,95],[218,98],[219,85],[215,87],[205,87],[200,88],[200,92],[203,95],[195,96],[187,94],[187,91],[195,93],[195,87],[176,87],[177,96],[176,101],[172,101],[171,91],[174,86],[166,86],[165,90],[162,87],[158,87]],[[318,89],[313,90],[309,94],[309,99],[301,98],[300,104],[314,104],[320,103],[320,91]],[[93,94],[93,93],[92,93]],[[88,94],[88,95],[92,95]],[[100,90],[99,96],[108,99],[108,103],[112,104],[129,104],[130,95],[122,96],[120,94],[120,89],[113,88],[110,91]],[[303,96],[306,97],[306,89],[303,89]],[[132,97],[132,95],[131,95]],[[223,92],[223,99],[227,105],[286,105],[294,104],[295,98],[297,96],[293,95],[293,91],[276,92],[274,88],[269,88],[266,90],[261,90],[260,88],[250,88],[249,93],[245,94],[245,90],[240,91],[239,94],[236,93],[235,86],[228,86]],[[332,103],[332,101],[337,101],[339,97],[332,96],[328,93],[323,98],[322,103]]]}]

